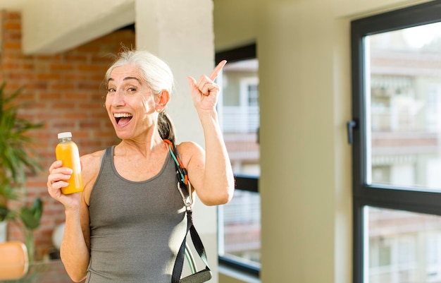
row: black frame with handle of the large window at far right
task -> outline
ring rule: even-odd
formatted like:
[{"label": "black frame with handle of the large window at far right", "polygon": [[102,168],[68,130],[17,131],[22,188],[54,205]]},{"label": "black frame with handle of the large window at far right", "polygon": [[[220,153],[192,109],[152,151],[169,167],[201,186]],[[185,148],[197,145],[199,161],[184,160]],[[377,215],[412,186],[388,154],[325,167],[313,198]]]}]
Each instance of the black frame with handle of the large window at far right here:
[{"label": "black frame with handle of the large window at far right", "polygon": [[[411,28],[441,21],[441,0],[401,8],[351,23],[352,52],[352,192],[353,192],[353,282],[364,282],[364,207],[441,215],[441,191],[402,188],[366,182],[366,87],[364,37],[380,32]],[[349,124],[348,124],[349,132]]]}]

